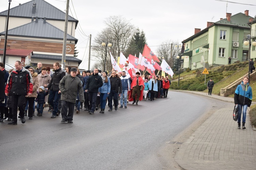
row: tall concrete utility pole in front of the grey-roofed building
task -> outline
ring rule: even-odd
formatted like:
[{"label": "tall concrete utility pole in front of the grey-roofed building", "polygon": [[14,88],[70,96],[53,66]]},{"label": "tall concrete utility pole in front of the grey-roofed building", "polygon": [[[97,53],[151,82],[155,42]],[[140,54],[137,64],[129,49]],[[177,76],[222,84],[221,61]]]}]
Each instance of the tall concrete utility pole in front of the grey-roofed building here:
[{"label": "tall concrete utility pole in front of the grey-roofed building", "polygon": [[66,63],[66,47],[67,47],[67,33],[68,33],[68,17],[69,17],[69,0],[67,0],[66,6],[66,16],[65,16],[65,28],[64,28],[64,36],[63,36],[63,47],[62,47],[62,69],[65,69]]}]

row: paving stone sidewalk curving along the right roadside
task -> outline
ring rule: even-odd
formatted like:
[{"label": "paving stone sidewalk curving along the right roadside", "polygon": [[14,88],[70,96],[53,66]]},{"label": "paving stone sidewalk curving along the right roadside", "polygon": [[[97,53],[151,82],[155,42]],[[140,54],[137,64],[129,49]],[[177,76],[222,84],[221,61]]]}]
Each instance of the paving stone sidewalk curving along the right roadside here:
[{"label": "paving stone sidewalk curving along the right roadside", "polygon": [[[197,92],[191,92],[197,93]],[[198,95],[205,93],[198,92]],[[226,97],[212,95],[215,99]],[[232,102],[232,98],[226,98]],[[177,151],[175,161],[187,170],[256,169],[256,131],[246,116],[246,129],[237,129],[233,108],[214,112]],[[242,124],[242,123],[241,123]]]}]

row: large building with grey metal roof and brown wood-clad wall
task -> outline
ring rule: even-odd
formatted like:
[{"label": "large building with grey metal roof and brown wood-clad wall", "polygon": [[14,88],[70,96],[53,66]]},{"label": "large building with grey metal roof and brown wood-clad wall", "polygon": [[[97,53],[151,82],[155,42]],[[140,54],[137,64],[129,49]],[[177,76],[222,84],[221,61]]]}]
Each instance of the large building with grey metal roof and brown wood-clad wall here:
[{"label": "large building with grey metal roof and brown wood-clad wall", "polygon": [[[7,14],[8,10],[0,13],[0,48],[4,48]],[[43,66],[52,68],[54,62],[61,63],[62,59],[65,15],[44,0],[32,0],[13,7],[10,9],[7,45],[10,49],[32,50],[32,66],[40,61]],[[78,41],[74,37],[77,24],[78,20],[68,17],[66,66],[78,67],[82,62],[73,57]]]}]

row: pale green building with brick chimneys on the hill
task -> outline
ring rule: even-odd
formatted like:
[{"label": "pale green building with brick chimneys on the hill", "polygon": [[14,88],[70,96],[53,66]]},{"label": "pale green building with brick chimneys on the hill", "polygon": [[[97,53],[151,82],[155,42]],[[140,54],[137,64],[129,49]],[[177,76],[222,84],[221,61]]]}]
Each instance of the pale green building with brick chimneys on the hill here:
[{"label": "pale green building with brick chimneys on the hill", "polygon": [[250,34],[249,21],[255,18],[249,11],[231,15],[217,22],[207,22],[207,28],[195,28],[195,34],[184,40],[184,68],[203,69],[228,64],[238,60],[248,60],[249,48],[243,45],[243,39]]}]

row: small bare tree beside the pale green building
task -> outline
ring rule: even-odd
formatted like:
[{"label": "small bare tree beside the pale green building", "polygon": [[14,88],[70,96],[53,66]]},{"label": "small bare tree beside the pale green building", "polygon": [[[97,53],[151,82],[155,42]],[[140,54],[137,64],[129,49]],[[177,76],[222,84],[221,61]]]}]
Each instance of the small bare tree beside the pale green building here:
[{"label": "small bare tree beside the pale green building", "polygon": [[175,62],[177,61],[176,57],[181,53],[181,47],[177,48],[175,45],[179,45],[179,41],[174,42],[167,40],[162,42],[156,50],[157,56],[163,57],[171,68],[174,67]]}]

